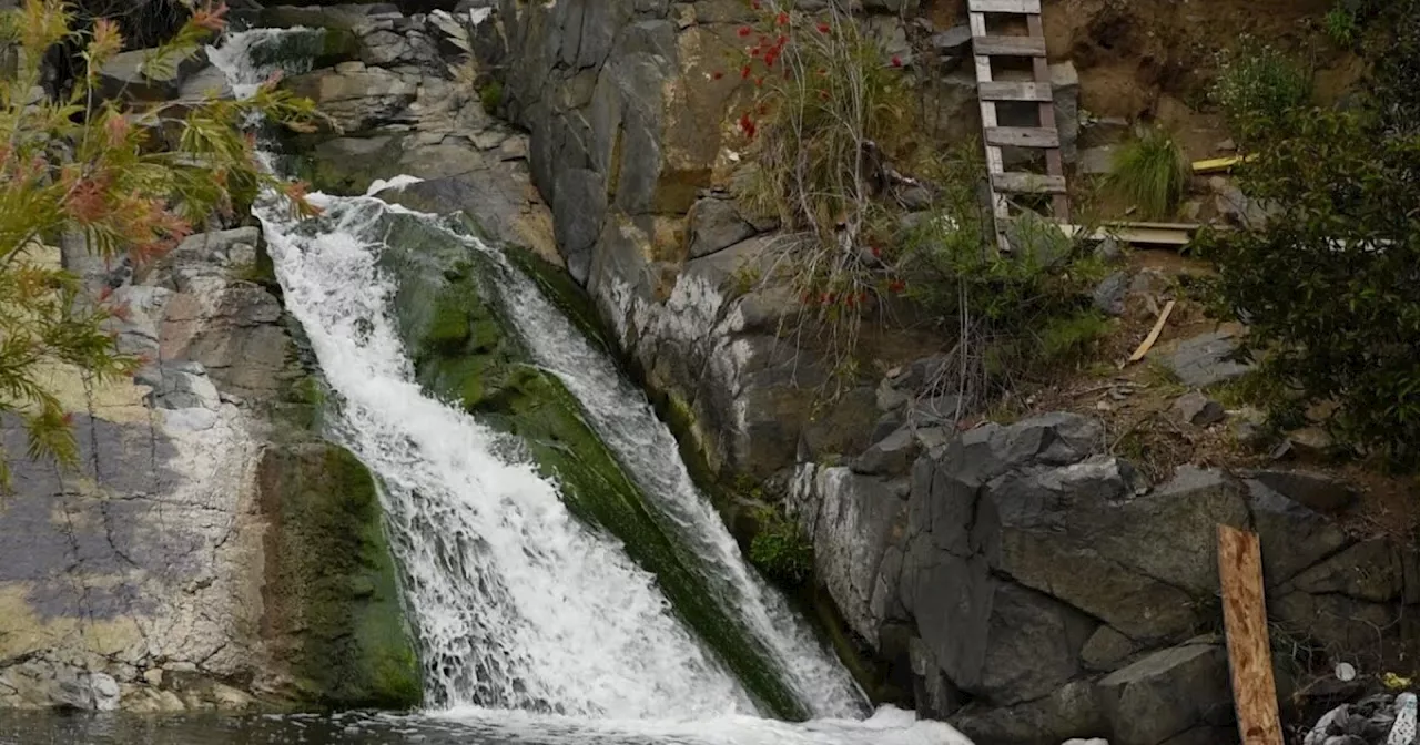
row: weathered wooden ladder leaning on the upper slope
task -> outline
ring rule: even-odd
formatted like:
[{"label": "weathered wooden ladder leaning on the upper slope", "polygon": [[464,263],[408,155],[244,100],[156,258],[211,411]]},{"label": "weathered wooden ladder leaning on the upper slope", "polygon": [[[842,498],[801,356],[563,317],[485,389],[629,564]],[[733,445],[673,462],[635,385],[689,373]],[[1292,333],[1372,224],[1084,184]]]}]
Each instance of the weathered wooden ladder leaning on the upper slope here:
[{"label": "weathered wooden ladder leaning on the upper slope", "polygon": [[[967,0],[971,13],[971,47],[977,67],[977,98],[981,101],[981,140],[991,179],[991,211],[995,216],[997,243],[1010,250],[1005,224],[1011,217],[1007,194],[1052,194],[1056,223],[1069,221],[1065,196],[1065,165],[1061,160],[1061,136],[1055,128],[1055,92],[1051,68],[1045,60],[1045,28],[1041,0]],[[1030,35],[987,35],[987,13],[1025,16]],[[993,57],[1031,58],[1032,82],[997,81],[991,72]],[[1000,126],[995,105],[1000,101],[1027,101],[1039,105],[1039,126]],[[1008,173],[1001,162],[1001,148],[1045,150],[1045,173]]]}]

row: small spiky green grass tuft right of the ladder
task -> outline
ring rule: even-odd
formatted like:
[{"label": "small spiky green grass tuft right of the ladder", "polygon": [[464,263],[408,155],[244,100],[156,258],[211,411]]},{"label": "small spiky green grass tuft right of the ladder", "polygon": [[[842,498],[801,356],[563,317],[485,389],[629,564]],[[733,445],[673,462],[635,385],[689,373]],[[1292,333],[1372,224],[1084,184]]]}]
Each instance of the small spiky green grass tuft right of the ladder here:
[{"label": "small spiky green grass tuft right of the ladder", "polygon": [[1149,128],[1119,149],[1105,183],[1145,220],[1163,220],[1179,209],[1191,177],[1183,148],[1167,132]]}]

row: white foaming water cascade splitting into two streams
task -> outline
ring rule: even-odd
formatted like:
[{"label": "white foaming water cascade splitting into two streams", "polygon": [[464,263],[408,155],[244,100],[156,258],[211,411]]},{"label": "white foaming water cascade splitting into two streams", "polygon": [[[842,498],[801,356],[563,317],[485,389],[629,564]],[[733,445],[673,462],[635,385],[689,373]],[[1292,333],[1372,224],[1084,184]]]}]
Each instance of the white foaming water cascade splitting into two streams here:
[{"label": "white foaming water cascade splitting into two streams", "polygon": [[[212,60],[234,91],[267,70],[234,34]],[[332,389],[329,434],[378,477],[406,606],[443,717],[567,742],[628,732],[646,742],[902,742],[970,745],[950,727],[885,710],[866,722],[861,691],[785,600],[750,570],[692,484],[669,430],[611,360],[496,248],[436,216],[376,197],[317,194],[318,220],[257,209],[287,309],[304,326]],[[558,375],[589,423],[696,559],[713,592],[770,651],[811,714],[761,719],[724,664],[680,622],[622,545],[562,504],[513,438],[420,390],[392,318],[379,257],[403,211],[442,240],[484,251],[510,272],[504,298],[537,362]],[[435,712],[437,714],[437,712]],[[674,724],[682,722],[682,724]],[[693,722],[693,724],[692,724]],[[577,732],[585,732],[579,738]],[[561,742],[561,739],[558,739]]]}]

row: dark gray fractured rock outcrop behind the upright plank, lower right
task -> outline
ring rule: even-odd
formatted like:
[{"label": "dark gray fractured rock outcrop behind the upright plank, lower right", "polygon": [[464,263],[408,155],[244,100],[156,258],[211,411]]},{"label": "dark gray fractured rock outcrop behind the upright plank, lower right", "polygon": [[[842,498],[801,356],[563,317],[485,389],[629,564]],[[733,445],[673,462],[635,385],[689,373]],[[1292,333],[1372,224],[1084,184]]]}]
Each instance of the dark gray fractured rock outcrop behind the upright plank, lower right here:
[{"label": "dark gray fractured rock outcrop behind the upright plank, lower right", "polygon": [[1220,524],[1260,534],[1278,623],[1328,649],[1413,654],[1416,552],[1345,534],[1298,500],[1305,474],[1183,467],[1150,485],[1102,450],[1096,423],[1047,414],[924,448],[906,482],[799,467],[791,504],[819,580],[912,675],[922,711],[983,744],[1231,736],[1227,656],[1198,636],[1221,624]]}]

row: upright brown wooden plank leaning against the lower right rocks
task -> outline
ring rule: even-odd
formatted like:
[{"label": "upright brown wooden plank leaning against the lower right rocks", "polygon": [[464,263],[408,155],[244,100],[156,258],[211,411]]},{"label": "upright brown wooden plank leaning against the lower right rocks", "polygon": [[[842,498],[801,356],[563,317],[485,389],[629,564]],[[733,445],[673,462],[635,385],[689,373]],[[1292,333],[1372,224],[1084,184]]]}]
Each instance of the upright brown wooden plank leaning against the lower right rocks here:
[{"label": "upright brown wooden plank leaning against the lower right rocks", "polygon": [[1282,745],[1282,719],[1277,710],[1277,681],[1272,680],[1272,653],[1267,639],[1262,548],[1257,534],[1218,525],[1218,580],[1223,585],[1233,704],[1242,745]]}]

